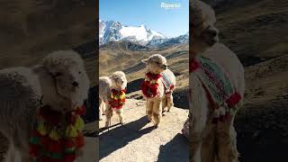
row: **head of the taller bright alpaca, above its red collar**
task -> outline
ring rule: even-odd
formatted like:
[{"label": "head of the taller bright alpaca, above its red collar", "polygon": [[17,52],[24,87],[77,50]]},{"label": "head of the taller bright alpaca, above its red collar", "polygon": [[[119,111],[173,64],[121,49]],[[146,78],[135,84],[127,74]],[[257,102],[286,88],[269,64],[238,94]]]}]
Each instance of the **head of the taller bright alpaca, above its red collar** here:
[{"label": "head of the taller bright alpaca, above its red collar", "polygon": [[147,59],[142,59],[142,62],[147,65],[148,72],[160,74],[167,69],[166,58],[159,54],[154,54]]}]

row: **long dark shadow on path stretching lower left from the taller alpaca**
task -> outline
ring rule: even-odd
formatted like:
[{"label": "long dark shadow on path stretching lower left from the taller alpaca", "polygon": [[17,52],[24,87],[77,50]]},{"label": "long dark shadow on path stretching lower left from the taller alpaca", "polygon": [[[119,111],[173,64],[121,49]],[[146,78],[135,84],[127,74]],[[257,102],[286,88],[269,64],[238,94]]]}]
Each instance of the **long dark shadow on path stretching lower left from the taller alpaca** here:
[{"label": "long dark shadow on path stretching lower left from the taller alpaca", "polygon": [[139,139],[142,135],[154,130],[154,127],[141,130],[148,122],[147,117],[143,116],[137,121],[131,121],[113,130],[103,132],[103,134],[99,136],[101,141],[99,159],[109,156],[113,151],[125,147],[130,141]]}]

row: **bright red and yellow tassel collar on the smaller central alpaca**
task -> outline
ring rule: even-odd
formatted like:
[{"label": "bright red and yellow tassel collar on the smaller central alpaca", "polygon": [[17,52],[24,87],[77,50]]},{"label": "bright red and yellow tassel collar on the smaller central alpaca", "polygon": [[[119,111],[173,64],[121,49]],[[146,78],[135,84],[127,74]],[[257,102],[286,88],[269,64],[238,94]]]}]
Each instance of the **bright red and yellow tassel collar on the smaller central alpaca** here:
[{"label": "bright red and yellow tassel collar on the smaller central alpaca", "polygon": [[125,94],[126,89],[117,90],[112,89],[111,90],[111,101],[109,102],[110,106],[114,109],[121,109],[125,103]]}]

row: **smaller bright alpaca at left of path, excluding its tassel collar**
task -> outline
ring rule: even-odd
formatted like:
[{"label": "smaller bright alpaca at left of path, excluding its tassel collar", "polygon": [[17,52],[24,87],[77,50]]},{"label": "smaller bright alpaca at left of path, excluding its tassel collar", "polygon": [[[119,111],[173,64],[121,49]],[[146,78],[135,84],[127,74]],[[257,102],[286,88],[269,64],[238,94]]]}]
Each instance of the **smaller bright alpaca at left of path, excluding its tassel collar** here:
[{"label": "smaller bright alpaca at left of path, excluding its tassel collar", "polygon": [[[100,104],[100,115],[105,114],[106,121],[105,127],[108,127],[112,118],[112,112],[116,112],[119,115],[120,123],[123,123],[123,108],[113,107],[112,102],[112,91],[118,92],[124,91],[127,86],[127,79],[122,71],[116,71],[112,76],[101,76],[99,77],[99,97],[101,100]],[[100,117],[102,119],[102,117]]]}]

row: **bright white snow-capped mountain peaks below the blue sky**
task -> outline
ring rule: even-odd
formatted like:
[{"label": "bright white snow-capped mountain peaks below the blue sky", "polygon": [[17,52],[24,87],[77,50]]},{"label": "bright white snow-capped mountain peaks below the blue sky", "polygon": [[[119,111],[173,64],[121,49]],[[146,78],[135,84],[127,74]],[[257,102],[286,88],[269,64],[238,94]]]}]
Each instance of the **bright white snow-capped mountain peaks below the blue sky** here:
[{"label": "bright white snow-capped mountain peaks below the blue sky", "polygon": [[157,31],[148,29],[145,25],[125,26],[119,22],[99,20],[99,45],[110,41],[129,40],[146,45],[150,40],[167,39]]}]

